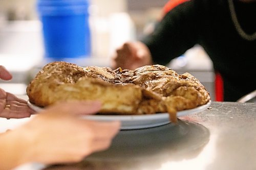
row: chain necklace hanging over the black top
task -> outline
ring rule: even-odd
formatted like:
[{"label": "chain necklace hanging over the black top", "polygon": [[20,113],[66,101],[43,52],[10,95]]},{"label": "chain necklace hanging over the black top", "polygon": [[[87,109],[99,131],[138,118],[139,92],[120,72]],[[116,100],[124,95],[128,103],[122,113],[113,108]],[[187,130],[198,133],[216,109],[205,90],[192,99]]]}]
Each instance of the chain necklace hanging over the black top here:
[{"label": "chain necklace hanging over the black top", "polygon": [[233,4],[232,0],[228,0],[228,6],[229,6],[230,14],[231,14],[231,19],[233,21],[234,27],[236,28],[238,34],[242,38],[244,38],[248,41],[255,40],[256,39],[256,32],[254,32],[252,34],[247,34],[246,32],[244,32],[244,30],[240,26],[240,23],[238,22],[236,11],[234,10],[234,4]]}]

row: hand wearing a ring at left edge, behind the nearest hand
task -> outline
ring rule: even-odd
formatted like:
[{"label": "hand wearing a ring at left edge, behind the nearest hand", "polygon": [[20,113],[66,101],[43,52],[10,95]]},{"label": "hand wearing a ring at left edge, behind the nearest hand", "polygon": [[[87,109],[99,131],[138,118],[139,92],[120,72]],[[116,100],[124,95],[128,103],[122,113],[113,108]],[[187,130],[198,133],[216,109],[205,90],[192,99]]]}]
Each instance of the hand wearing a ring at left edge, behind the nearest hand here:
[{"label": "hand wearing a ring at left edge, behind the nearest hand", "polygon": [[[0,79],[12,79],[10,72],[2,65],[0,65]],[[23,118],[30,117],[33,113],[34,111],[28,107],[25,100],[0,88],[0,117]]]}]

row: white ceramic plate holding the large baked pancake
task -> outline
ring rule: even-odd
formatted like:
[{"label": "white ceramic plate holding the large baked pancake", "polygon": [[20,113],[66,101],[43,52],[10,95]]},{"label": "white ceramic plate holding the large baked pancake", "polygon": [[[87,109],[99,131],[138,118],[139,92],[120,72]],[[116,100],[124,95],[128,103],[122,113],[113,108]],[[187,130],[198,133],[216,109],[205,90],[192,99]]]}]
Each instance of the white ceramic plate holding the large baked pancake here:
[{"label": "white ceramic plate holding the large baked pancake", "polygon": [[[182,110],[177,112],[177,117],[185,116],[189,114],[199,113],[207,109],[211,105],[211,101],[205,105],[196,107],[194,109]],[[28,106],[36,112],[42,111],[44,108],[35,106],[28,102]],[[145,129],[162,126],[170,123],[168,113],[157,113],[157,114],[143,114],[143,115],[84,115],[83,118],[98,121],[111,121],[120,120],[122,130],[131,129]]]}]

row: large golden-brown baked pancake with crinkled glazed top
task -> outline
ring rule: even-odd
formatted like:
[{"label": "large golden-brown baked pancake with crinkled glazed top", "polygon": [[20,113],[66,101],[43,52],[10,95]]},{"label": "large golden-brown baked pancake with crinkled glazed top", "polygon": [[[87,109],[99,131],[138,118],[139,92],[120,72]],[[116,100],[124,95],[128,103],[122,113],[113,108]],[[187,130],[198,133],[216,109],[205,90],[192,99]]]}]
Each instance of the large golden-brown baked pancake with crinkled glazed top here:
[{"label": "large golden-brown baked pancake with crinkled glazed top", "polygon": [[195,108],[210,100],[192,75],[178,75],[162,65],[135,70],[80,67],[67,62],[47,64],[27,87],[29,101],[46,107],[60,101],[98,100],[101,114],[154,114]]}]

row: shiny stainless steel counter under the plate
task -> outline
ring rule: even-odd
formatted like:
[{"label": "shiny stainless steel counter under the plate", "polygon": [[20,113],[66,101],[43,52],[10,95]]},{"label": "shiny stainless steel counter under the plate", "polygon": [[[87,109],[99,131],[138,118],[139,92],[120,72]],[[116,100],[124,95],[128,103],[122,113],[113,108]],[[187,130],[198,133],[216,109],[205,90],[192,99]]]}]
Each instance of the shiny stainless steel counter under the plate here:
[{"label": "shiny stainless steel counter under the plate", "polygon": [[178,125],[121,131],[109,150],[45,169],[256,169],[256,104],[213,102]]}]

